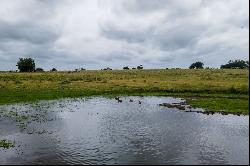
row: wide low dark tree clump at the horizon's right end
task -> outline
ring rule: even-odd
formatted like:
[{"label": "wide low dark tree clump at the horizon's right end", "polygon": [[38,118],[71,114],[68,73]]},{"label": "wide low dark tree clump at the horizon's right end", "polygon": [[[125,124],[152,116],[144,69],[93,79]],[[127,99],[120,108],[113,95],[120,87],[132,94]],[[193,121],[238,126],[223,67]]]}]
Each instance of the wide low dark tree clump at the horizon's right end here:
[{"label": "wide low dark tree clump at the horizon's right end", "polygon": [[249,68],[249,61],[244,60],[230,60],[227,64],[221,65],[221,69],[245,69]]}]

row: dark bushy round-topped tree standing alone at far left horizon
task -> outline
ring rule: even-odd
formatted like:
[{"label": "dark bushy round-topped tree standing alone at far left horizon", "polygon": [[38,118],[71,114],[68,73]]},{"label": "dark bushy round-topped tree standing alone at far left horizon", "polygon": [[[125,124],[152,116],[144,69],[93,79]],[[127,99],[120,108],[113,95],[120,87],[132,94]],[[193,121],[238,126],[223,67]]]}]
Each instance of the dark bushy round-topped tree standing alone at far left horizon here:
[{"label": "dark bushy round-topped tree standing alone at far left horizon", "polygon": [[32,58],[19,58],[17,67],[20,72],[33,72],[35,71],[35,61]]}]

